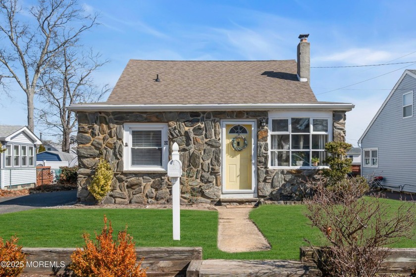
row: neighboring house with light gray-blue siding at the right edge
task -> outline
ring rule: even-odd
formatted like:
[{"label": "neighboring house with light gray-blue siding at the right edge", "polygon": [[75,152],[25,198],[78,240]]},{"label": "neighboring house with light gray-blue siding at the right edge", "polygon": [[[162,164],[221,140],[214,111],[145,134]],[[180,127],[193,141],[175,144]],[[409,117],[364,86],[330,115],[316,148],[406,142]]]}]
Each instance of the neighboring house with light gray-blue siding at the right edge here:
[{"label": "neighboring house with light gray-blue siding at the right edge", "polygon": [[416,192],[416,70],[406,70],[359,139],[362,175],[382,185]]}]

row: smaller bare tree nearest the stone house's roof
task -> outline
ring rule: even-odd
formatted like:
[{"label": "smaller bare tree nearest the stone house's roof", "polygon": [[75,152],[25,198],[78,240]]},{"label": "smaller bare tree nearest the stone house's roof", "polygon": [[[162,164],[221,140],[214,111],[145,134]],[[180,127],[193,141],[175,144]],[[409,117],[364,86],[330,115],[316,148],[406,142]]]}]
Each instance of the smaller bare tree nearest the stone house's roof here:
[{"label": "smaller bare tree nearest the stone house's roof", "polygon": [[48,128],[48,134],[62,136],[62,151],[69,152],[69,136],[77,126],[74,112],[66,107],[73,103],[99,101],[108,92],[108,85],[99,88],[92,73],[107,63],[100,54],[87,54],[81,46],[63,46],[51,66],[40,75],[39,98],[44,103],[36,109],[38,122]]}]

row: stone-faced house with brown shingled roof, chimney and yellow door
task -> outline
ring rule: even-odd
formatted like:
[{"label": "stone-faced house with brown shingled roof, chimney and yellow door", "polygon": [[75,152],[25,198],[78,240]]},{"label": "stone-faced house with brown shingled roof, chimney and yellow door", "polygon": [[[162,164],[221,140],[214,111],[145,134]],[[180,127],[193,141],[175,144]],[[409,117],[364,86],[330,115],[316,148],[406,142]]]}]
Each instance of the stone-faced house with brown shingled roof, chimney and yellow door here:
[{"label": "stone-faced house with brown shingled roof, chimney and yellow door", "polygon": [[298,62],[130,60],[106,102],[70,106],[78,199],[93,199],[88,184],[104,157],[114,168],[105,202],[169,202],[174,142],[183,202],[301,199],[303,181],[324,166],[324,144],[344,141],[354,105],[316,100],[310,43],[300,39]]}]

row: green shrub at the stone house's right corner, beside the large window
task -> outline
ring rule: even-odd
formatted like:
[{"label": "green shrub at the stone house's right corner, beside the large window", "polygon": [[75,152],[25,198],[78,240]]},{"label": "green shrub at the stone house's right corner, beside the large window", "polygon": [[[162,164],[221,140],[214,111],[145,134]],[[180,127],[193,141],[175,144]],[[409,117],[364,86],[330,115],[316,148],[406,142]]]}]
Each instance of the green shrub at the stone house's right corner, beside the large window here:
[{"label": "green shrub at the stone house's right corner, beside the large window", "polygon": [[325,159],[330,169],[323,170],[328,185],[334,185],[344,179],[351,172],[351,159],[346,159],[352,145],[347,142],[331,141],[325,144],[325,151],[330,155]]}]

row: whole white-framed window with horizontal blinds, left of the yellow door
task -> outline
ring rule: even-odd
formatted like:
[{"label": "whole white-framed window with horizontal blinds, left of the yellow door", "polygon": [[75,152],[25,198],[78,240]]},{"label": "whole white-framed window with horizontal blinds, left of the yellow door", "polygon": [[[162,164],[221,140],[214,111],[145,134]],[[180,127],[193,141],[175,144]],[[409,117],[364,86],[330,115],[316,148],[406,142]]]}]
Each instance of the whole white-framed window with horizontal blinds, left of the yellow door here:
[{"label": "whole white-framed window with horizontal blinds, left of the yellow door", "polygon": [[169,143],[165,123],[126,123],[124,143],[125,170],[166,170]]}]

